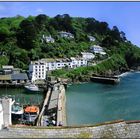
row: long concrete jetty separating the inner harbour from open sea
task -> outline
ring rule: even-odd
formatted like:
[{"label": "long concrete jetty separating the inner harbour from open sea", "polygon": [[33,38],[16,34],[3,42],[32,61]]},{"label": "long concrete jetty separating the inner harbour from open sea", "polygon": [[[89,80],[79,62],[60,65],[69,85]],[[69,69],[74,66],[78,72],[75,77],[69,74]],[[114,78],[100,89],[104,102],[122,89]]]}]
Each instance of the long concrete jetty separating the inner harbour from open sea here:
[{"label": "long concrete jetty separating the inner harbour from open sea", "polygon": [[[51,85],[51,86],[50,86]],[[48,91],[37,120],[37,126],[66,126],[65,87],[61,83],[48,85]]]}]

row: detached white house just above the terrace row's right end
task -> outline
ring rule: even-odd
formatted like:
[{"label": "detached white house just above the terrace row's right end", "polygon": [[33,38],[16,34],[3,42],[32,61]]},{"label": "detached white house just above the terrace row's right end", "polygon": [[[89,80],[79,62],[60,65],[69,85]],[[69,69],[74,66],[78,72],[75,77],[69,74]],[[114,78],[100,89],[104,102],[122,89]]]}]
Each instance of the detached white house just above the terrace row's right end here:
[{"label": "detached white house just above the terrace row's right end", "polygon": [[95,54],[101,54],[101,55],[105,55],[106,52],[103,50],[102,47],[98,46],[98,45],[93,45],[90,47],[90,51],[94,52]]}]

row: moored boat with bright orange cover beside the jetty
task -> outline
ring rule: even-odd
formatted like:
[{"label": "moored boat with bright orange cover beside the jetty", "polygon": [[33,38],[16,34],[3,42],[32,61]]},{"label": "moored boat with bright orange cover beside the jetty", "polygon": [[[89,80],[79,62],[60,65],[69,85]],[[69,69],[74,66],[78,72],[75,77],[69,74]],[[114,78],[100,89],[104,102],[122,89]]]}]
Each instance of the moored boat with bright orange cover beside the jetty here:
[{"label": "moored boat with bright orange cover beside the jetty", "polygon": [[28,123],[34,123],[36,118],[39,115],[39,107],[38,106],[26,106],[24,109],[24,119]]}]

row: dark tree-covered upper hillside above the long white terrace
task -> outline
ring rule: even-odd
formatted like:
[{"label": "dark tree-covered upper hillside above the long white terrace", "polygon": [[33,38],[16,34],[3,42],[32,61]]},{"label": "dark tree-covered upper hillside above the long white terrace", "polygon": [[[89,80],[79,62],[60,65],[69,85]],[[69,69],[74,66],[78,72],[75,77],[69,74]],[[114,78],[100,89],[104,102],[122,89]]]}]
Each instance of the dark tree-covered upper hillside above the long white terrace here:
[{"label": "dark tree-covered upper hillside above the long white terrace", "polygon": [[[60,38],[60,31],[72,33],[74,39]],[[55,42],[43,42],[43,35],[51,35]],[[90,42],[88,35],[96,40]],[[68,14],[51,18],[41,14],[0,19],[0,66],[9,64],[28,69],[31,60],[77,56],[93,44],[102,46],[109,56],[121,55],[129,67],[140,65],[140,49],[126,39],[125,33],[116,26],[110,29],[108,23],[94,18]]]}]

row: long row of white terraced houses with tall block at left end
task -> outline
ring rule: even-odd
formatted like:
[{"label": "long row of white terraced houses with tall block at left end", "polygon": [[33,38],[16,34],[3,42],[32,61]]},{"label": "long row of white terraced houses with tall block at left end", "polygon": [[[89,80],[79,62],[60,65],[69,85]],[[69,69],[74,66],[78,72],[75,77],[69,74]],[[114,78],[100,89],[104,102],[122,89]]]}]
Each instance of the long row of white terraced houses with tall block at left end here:
[{"label": "long row of white terraced houses with tall block at left end", "polygon": [[88,61],[84,58],[71,57],[66,59],[41,59],[32,61],[29,65],[29,77],[31,81],[44,80],[48,71],[53,71],[62,68],[76,68],[80,66],[87,66]]}]

